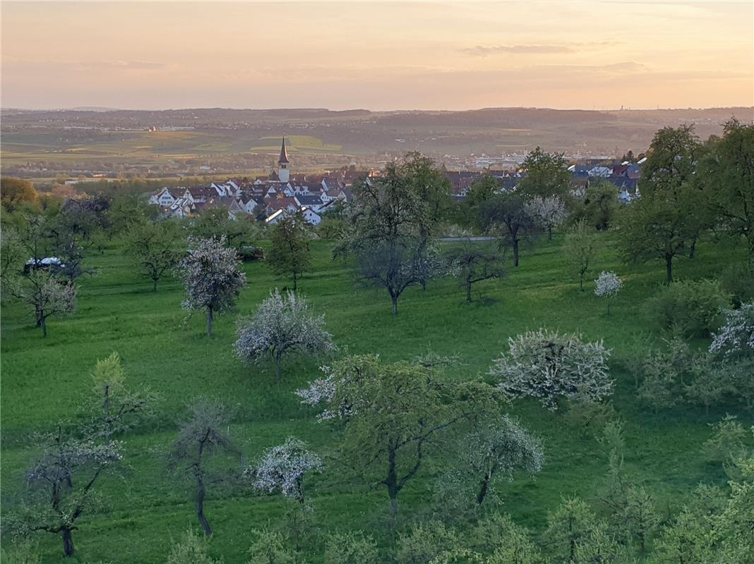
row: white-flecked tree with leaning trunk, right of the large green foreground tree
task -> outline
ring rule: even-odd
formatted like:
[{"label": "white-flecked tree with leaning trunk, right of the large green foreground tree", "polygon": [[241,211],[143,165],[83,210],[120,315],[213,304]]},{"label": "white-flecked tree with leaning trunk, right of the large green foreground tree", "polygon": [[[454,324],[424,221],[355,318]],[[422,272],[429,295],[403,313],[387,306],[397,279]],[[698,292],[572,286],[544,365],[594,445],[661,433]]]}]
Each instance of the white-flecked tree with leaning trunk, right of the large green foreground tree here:
[{"label": "white-flecked tree with leaning trunk, right of the large green foreground tree", "polygon": [[461,438],[457,473],[464,483],[473,483],[474,498],[482,505],[503,480],[524,471],[541,471],[544,452],[541,441],[518,422],[502,416]]}]

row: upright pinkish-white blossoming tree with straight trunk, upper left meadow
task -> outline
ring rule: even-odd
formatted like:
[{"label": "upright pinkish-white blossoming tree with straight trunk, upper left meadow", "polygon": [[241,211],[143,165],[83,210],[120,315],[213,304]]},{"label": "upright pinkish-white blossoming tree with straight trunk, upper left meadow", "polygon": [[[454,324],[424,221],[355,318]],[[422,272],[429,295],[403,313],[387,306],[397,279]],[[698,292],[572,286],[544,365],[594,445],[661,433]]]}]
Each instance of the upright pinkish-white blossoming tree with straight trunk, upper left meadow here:
[{"label": "upright pinkish-white blossoming tree with straight trunk, upper left meadow", "polygon": [[214,316],[235,307],[235,299],[246,285],[246,274],[234,248],[222,239],[189,238],[188,255],[178,263],[178,272],[186,289],[185,309],[207,312],[207,335],[212,334]]}]

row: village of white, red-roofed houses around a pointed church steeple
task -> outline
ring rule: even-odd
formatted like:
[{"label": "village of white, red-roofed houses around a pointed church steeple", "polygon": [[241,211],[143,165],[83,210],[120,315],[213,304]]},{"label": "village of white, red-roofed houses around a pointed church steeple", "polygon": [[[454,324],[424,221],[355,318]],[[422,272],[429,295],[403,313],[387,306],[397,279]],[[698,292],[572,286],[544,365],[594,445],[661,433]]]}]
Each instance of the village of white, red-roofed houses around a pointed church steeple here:
[{"label": "village of white, red-roofed houses around a pointed church steeple", "polygon": [[[602,178],[615,184],[618,199],[629,203],[639,196],[638,181],[641,165],[629,160],[583,160],[569,166],[572,190],[582,193],[590,181]],[[266,224],[277,224],[283,218],[302,213],[312,225],[320,224],[322,216],[337,203],[348,203],[353,198],[354,181],[379,176],[375,170],[345,169],[321,175],[292,174],[285,137],[280,145],[277,169],[267,176],[231,178],[225,182],[211,182],[197,187],[163,187],[149,195],[149,204],[159,206],[166,217],[185,218],[201,215],[210,209],[227,209],[228,218],[238,219],[251,215]],[[464,200],[474,182],[483,175],[496,178],[500,191],[514,191],[526,171],[520,169],[445,170],[451,185],[452,197]]]}]

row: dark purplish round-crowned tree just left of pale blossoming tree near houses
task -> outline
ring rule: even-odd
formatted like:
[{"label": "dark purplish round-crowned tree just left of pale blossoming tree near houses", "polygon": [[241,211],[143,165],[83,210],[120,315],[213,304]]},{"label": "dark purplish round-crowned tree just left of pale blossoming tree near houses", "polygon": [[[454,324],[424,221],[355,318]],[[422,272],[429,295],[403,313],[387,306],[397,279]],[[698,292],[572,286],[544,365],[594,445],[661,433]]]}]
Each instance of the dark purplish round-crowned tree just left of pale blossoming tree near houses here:
[{"label": "dark purplish round-crowned tree just left of pale blossoming tree near houses", "polygon": [[479,209],[479,223],[485,233],[507,241],[513,249],[513,266],[518,267],[521,238],[535,228],[523,196],[510,193],[486,200]]}]

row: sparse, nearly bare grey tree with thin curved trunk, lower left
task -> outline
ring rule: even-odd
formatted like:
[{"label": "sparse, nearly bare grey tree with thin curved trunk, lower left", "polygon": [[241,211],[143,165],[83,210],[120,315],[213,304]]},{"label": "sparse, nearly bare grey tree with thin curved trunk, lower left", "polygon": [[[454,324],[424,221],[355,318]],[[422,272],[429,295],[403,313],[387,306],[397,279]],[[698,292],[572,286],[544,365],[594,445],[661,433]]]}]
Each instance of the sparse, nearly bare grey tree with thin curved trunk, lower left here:
[{"label": "sparse, nearly bare grey tree with thin curved trunk, lower left", "polygon": [[204,534],[212,535],[212,528],[204,516],[204,498],[207,485],[228,480],[231,471],[213,471],[211,459],[219,454],[238,457],[238,449],[225,429],[230,425],[233,412],[213,401],[199,398],[189,406],[189,417],[179,422],[178,438],[168,456],[168,468],[195,481],[196,515]]}]

